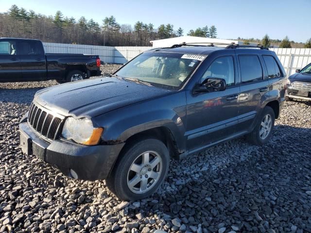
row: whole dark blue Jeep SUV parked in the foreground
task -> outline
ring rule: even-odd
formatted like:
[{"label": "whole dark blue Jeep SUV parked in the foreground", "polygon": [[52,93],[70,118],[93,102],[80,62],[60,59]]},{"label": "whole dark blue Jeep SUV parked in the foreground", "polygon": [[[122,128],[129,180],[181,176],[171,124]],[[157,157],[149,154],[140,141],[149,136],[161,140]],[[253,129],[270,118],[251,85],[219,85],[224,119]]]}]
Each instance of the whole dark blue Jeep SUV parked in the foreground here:
[{"label": "whole dark blue Jeep SUV parked in the foreground", "polygon": [[275,52],[249,47],[149,50],[110,77],[40,90],[20,122],[20,146],[71,178],[106,179],[122,200],[151,195],[171,157],[244,134],[269,140],[286,75]]}]

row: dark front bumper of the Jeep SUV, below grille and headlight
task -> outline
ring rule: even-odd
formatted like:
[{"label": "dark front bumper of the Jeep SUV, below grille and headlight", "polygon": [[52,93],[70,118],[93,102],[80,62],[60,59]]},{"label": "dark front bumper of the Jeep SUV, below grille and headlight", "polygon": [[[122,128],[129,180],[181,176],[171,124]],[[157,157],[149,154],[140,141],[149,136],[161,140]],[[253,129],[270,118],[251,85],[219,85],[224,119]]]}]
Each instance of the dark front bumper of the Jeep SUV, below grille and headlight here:
[{"label": "dark front bumper of the Jeep SUV, below grille and headlight", "polygon": [[27,122],[19,124],[19,145],[26,154],[35,156],[72,177],[72,169],[80,180],[106,179],[124,143],[84,146],[62,140],[49,143],[40,138]]}]

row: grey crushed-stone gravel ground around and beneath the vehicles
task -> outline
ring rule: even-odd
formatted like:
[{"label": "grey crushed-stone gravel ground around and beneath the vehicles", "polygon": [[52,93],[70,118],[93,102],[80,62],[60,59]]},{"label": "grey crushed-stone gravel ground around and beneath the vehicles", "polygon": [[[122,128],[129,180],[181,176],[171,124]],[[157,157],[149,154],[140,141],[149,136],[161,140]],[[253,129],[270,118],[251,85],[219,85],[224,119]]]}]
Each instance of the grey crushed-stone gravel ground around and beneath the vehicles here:
[{"label": "grey crushed-stone gravel ground around and beneath the vehicles", "polygon": [[122,202],[18,148],[19,119],[54,84],[0,83],[0,232],[311,232],[310,102],[286,102],[267,145],[241,138],[172,160],[153,197]]}]

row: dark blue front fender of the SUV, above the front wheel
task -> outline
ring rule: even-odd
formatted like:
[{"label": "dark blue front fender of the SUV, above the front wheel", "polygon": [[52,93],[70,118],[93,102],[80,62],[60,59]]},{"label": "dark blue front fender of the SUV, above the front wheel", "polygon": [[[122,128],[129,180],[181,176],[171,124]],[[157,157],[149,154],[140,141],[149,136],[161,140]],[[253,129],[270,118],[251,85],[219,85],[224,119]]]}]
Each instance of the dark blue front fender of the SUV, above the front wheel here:
[{"label": "dark blue front fender of the SUV, above the front wheel", "polygon": [[139,102],[101,116],[96,125],[104,127],[102,141],[106,144],[125,142],[131,136],[150,129],[165,127],[173,135],[179,151],[185,150],[186,99],[176,93],[155,100]]}]

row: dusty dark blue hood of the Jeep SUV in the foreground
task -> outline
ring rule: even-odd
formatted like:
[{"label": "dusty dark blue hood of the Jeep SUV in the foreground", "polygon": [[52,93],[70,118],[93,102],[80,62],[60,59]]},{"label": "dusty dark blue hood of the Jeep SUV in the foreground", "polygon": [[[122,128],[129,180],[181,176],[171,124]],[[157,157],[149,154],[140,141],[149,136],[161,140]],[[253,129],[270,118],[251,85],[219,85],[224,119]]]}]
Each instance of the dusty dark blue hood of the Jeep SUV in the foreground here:
[{"label": "dusty dark blue hood of the Jeep SUV in the foreground", "polygon": [[93,117],[171,91],[117,78],[96,78],[48,87],[35,102],[65,116]]}]

